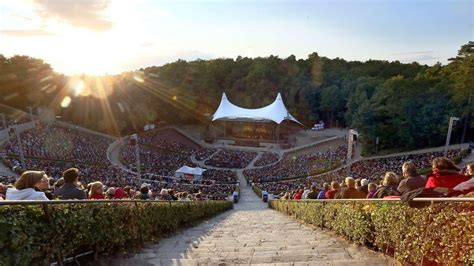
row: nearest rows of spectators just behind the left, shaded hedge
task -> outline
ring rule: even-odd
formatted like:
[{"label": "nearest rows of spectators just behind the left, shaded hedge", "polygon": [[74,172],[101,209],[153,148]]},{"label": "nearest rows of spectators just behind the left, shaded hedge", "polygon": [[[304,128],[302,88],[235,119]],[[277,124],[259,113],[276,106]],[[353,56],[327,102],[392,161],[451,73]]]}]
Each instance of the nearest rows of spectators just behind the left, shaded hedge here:
[{"label": "nearest rows of spectators just behind the left, shaded hedge", "polygon": [[[112,169],[108,169],[113,171]],[[100,178],[98,178],[101,180]],[[139,179],[98,180],[78,168],[69,168],[54,180],[44,171],[25,171],[17,179],[0,177],[0,200],[69,200],[69,199],[140,199],[140,200],[206,200],[225,199],[233,185],[195,186],[186,184],[157,184]],[[123,180],[122,180],[123,181]]]}]

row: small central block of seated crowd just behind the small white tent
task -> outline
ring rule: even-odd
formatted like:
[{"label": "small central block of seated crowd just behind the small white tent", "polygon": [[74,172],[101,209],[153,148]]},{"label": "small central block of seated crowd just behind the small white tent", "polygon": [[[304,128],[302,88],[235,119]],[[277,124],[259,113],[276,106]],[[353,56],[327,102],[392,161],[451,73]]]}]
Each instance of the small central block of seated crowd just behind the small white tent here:
[{"label": "small central block of seated crowd just behind the small white tent", "polygon": [[245,168],[257,156],[256,152],[239,150],[220,150],[204,163],[220,168]]}]

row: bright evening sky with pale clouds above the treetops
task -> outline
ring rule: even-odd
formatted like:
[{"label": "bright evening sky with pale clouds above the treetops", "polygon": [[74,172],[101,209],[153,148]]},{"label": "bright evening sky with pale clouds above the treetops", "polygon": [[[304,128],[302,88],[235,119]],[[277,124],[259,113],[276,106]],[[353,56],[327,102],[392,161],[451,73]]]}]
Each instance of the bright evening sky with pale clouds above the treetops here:
[{"label": "bright evening sky with pale clouds above the treetops", "polygon": [[447,63],[474,40],[474,0],[0,0],[0,54],[117,74],[237,56]]}]

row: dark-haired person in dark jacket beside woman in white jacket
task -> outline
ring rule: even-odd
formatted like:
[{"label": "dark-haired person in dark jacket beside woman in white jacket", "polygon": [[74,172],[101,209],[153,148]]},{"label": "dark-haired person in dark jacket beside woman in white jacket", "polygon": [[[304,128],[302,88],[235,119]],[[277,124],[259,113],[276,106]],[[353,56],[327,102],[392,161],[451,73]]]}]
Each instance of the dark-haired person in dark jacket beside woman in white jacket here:
[{"label": "dark-haired person in dark jacket beside woman in white jacket", "polygon": [[54,198],[67,199],[86,199],[86,192],[80,189],[77,185],[79,181],[79,169],[69,168],[63,172],[62,178],[64,185],[54,191]]}]

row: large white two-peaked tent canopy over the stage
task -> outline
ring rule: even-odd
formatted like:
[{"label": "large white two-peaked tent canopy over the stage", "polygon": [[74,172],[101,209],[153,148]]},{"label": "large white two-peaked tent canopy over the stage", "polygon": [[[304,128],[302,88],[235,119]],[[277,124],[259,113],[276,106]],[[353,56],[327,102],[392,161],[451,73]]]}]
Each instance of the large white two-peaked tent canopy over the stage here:
[{"label": "large white two-peaked tent canopy over the stage", "polygon": [[212,121],[215,120],[270,120],[277,124],[281,124],[284,120],[291,120],[301,124],[294,118],[288,109],[286,109],[281,94],[278,93],[273,103],[257,109],[248,109],[239,107],[231,103],[225,93],[222,94],[221,103],[217,111],[212,116]]}]

